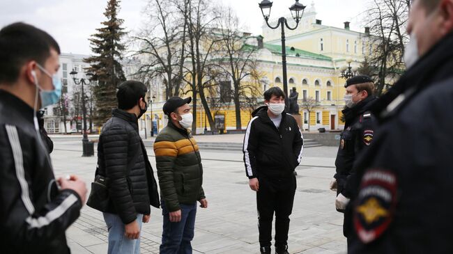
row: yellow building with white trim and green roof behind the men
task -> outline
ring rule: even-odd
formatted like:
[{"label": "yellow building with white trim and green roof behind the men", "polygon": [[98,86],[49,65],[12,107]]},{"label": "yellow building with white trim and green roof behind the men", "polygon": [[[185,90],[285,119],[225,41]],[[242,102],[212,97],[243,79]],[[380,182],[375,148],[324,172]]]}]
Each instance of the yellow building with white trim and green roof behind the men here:
[{"label": "yellow building with white trim and green roof behind the men", "polygon": [[[288,17],[290,26],[293,19]],[[270,21],[275,26],[275,21]],[[317,130],[342,129],[341,110],[344,109],[344,84],[341,78],[341,67],[347,65],[346,59],[351,59],[351,66],[358,68],[364,56],[370,54],[369,29],[364,33],[351,31],[349,22],[344,22],[343,28],[324,26],[322,21],[316,19],[316,10],[312,3],[302,17],[298,29],[286,29],[286,66],[288,77],[288,90],[293,87],[299,93],[298,104],[302,116],[302,129]],[[282,81],[282,47],[281,30],[269,29],[263,25],[263,37],[258,36],[247,43],[259,47],[257,61],[259,71],[264,74],[261,80],[261,91],[272,86],[283,88]],[[156,99],[153,104],[153,120],[157,120],[158,129],[167,124],[166,116],[162,113],[164,101],[164,88],[156,88]],[[262,94],[262,93],[261,93]],[[189,96],[189,95],[187,95]],[[304,108],[304,99],[313,99],[318,106],[309,113]],[[263,98],[256,98],[256,107],[263,104]],[[231,102],[232,103],[232,102]],[[211,109],[213,114],[224,116],[226,129],[236,129],[236,114],[234,105],[229,103],[222,109]],[[247,127],[251,110],[241,111],[242,128]],[[203,133],[206,125],[204,109],[197,109],[197,133]],[[142,121],[141,127],[151,129],[151,112],[148,111],[146,122]]]}]

